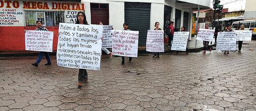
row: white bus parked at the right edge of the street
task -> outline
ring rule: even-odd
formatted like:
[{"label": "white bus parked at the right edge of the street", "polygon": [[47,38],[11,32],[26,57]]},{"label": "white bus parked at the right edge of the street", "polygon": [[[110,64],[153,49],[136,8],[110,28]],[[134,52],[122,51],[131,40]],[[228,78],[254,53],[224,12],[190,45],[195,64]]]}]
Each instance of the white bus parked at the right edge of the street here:
[{"label": "white bus parked at the right edge of the street", "polygon": [[256,37],[256,19],[235,21],[232,23],[232,28],[240,28],[242,24],[244,25],[244,30],[252,31],[252,37]]}]

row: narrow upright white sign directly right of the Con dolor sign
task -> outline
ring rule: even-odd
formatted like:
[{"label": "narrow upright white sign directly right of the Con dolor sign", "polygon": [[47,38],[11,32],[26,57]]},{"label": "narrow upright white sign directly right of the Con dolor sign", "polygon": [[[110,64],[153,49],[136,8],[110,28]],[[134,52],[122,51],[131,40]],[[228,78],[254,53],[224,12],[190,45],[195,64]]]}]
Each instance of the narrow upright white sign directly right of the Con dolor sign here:
[{"label": "narrow upright white sign directly right of the Con dolor sign", "polygon": [[146,51],[164,52],[163,30],[147,30]]}]

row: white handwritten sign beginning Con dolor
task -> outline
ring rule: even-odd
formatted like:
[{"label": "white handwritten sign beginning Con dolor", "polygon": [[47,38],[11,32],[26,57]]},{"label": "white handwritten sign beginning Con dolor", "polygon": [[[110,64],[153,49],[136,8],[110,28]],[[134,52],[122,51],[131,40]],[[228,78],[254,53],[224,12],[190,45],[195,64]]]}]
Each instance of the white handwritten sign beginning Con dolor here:
[{"label": "white handwritten sign beginning Con dolor", "polygon": [[112,53],[123,57],[137,57],[139,31],[112,30]]}]

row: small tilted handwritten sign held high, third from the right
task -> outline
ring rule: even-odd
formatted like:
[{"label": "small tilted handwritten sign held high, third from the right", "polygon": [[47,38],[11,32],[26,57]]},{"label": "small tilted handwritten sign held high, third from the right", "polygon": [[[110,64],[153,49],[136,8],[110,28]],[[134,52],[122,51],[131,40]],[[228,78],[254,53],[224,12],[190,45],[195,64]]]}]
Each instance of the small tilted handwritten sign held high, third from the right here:
[{"label": "small tilted handwritten sign held high, third from the right", "polygon": [[214,30],[199,29],[197,40],[212,41],[214,38]]}]

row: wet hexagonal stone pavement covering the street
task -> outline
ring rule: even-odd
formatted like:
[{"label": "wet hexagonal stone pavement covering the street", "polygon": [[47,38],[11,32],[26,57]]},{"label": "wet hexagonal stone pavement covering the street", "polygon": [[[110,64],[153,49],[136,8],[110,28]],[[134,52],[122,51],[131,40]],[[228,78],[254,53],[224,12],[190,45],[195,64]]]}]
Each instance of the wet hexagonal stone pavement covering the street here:
[{"label": "wet hexagonal stone pavement covering the street", "polygon": [[256,110],[256,41],[242,53],[212,50],[109,59],[88,70],[77,88],[78,69],[38,68],[37,56],[0,58],[0,110]]}]

